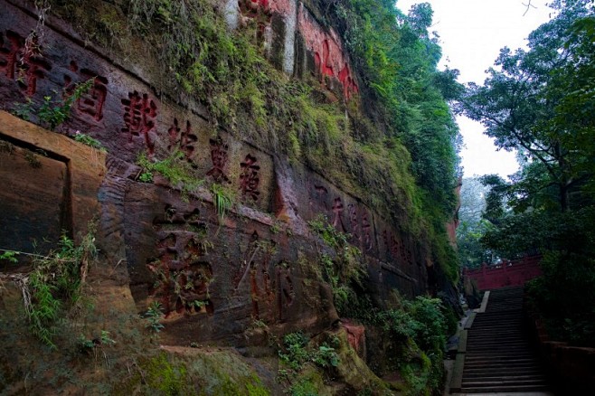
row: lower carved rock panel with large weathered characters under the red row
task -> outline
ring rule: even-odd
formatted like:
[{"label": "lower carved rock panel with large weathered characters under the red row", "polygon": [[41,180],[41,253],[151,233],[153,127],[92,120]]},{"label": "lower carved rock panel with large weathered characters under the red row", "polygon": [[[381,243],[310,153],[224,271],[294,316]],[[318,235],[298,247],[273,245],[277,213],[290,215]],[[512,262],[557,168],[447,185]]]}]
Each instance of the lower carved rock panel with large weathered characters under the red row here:
[{"label": "lower carved rock panel with large weathered characters under the red row", "polygon": [[190,328],[194,340],[206,340],[244,331],[254,321],[297,324],[321,315],[318,281],[305,283],[297,266],[300,254],[316,260],[310,241],[294,236],[288,243],[269,225],[232,213],[234,227],[222,227],[211,204],[184,203],[179,193],[135,182],[127,187],[124,212],[138,310],[158,302],[164,331],[176,340]]}]

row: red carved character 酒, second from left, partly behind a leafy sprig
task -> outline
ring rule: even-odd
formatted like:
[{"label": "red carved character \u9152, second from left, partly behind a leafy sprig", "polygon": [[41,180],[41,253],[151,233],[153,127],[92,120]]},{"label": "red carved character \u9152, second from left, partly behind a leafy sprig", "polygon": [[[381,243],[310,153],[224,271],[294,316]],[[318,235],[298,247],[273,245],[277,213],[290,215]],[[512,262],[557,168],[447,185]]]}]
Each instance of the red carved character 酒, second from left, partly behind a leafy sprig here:
[{"label": "red carved character \u9152, second from left, partly behind a leafy sprig", "polygon": [[79,69],[77,63],[71,61],[68,72],[64,75],[64,90],[68,95],[71,95],[77,84],[90,79],[93,79],[90,90],[82,93],[75,108],[81,113],[95,118],[96,121],[100,121],[103,118],[103,105],[108,96],[108,79],[89,69]]}]

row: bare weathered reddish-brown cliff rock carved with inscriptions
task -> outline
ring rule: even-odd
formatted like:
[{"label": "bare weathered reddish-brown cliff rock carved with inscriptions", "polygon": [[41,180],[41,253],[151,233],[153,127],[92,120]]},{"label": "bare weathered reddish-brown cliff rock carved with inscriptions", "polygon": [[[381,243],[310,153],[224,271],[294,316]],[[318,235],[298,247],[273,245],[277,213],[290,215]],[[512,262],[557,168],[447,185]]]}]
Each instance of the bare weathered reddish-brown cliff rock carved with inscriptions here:
[{"label": "bare weathered reddish-brown cliff rock carved with inscriptions", "polygon": [[[296,76],[313,73],[329,98],[353,99],[358,83],[343,44],[307,7],[293,0],[240,3],[239,8],[235,1],[223,5],[232,11],[228,23],[264,13],[262,32],[279,69]],[[266,347],[269,339],[256,323],[266,324],[267,335],[325,331],[339,317],[331,289],[316,277],[318,254],[325,248],[307,222],[319,215],[350,234],[350,242],[362,250],[369,275],[365,286],[375,302],[382,305],[395,288],[409,297],[429,290],[434,271],[429,252],[361,197],[306,165],[289,164],[266,147],[213,127],[198,103],[187,100],[182,106],[167,95],[158,97],[142,64],[133,67],[108,50],[85,46],[62,22],[46,21],[42,56],[30,56],[25,42],[37,29],[33,10],[7,0],[0,0],[0,9],[0,108],[17,108],[15,103],[25,99],[39,108],[44,97],[93,80],[56,132],[0,111],[0,183],[5,186],[0,248],[45,253],[62,230],[78,238],[96,219],[105,262],[90,274],[98,306],[90,324],[94,331],[120,329],[121,321],[137,320],[152,301],[164,310],[160,343],[169,345],[170,355],[193,354],[175,345],[194,343]],[[69,138],[78,133],[97,139],[108,154]],[[138,181],[139,155],[162,159],[176,151],[203,186],[184,193],[158,174],[154,183]],[[238,197],[224,217],[207,188],[211,183]],[[40,242],[36,248],[34,240]],[[11,293],[6,304],[15,304],[16,292]],[[14,315],[14,309],[10,312]],[[365,359],[364,327],[347,324],[345,329],[346,339]],[[0,363],[29,364],[14,359]],[[352,363],[354,370],[369,371],[357,356]],[[137,362],[120,364],[134,372],[130,367]],[[9,371],[11,378],[24,372]],[[130,378],[140,381],[136,375]],[[11,389],[26,391],[26,386]]]}]

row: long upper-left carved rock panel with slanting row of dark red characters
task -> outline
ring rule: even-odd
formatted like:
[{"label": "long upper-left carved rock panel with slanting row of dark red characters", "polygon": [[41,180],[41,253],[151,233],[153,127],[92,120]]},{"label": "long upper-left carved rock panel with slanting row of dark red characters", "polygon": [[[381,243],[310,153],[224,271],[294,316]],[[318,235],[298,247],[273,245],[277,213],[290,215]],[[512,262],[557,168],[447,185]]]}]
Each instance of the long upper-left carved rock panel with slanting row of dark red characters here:
[{"label": "long upper-left carved rock panel with slanting row of dark red characters", "polygon": [[[252,3],[245,5],[252,9]],[[268,6],[260,3],[257,9]],[[181,153],[197,180],[225,184],[243,203],[270,210],[271,156],[213,131],[192,111],[162,102],[142,76],[122,71],[81,48],[50,24],[44,26],[42,39],[37,39],[32,35],[36,21],[31,16],[5,1],[1,4],[8,12],[0,14],[0,87],[20,92],[21,97],[20,104],[15,104],[12,97],[0,96],[0,106],[24,106],[31,99],[31,107],[40,108],[46,97],[59,102],[80,84],[90,83],[89,90],[74,101],[71,118],[57,126],[57,132],[96,138],[111,155],[128,163],[136,162],[143,152],[151,161]],[[48,127],[34,110],[31,113],[33,122]]]}]

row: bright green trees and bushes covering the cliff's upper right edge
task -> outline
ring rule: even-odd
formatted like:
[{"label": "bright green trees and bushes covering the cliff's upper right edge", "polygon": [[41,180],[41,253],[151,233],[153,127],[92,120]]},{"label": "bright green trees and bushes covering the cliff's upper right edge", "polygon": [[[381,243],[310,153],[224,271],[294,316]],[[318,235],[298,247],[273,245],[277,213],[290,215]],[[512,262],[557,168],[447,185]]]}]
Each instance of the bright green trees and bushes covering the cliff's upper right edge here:
[{"label": "bright green trees and bushes covering the cliff's upper right edge", "polygon": [[[457,278],[457,260],[444,230],[457,203],[458,127],[448,102],[462,87],[458,71],[438,71],[438,36],[430,33],[432,10],[413,5],[409,14],[394,2],[339,0],[331,14],[364,84],[363,95],[381,106],[390,137],[397,137],[411,155],[409,164],[420,190],[413,194],[422,212],[424,239],[450,279]],[[397,4],[398,5],[398,4]],[[378,110],[380,108],[380,110]]]}]

